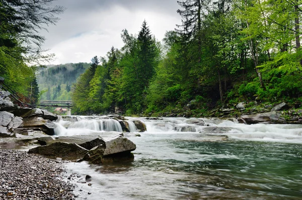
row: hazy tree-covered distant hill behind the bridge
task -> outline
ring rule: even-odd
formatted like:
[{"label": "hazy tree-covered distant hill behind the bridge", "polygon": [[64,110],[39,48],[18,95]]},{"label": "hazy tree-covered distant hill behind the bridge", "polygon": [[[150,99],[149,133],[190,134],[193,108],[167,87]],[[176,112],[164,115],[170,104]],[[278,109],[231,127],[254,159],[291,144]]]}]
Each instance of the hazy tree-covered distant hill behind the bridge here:
[{"label": "hazy tree-covered distant hill behind the bridge", "polygon": [[49,65],[39,69],[37,82],[40,100],[70,100],[71,85],[90,67],[90,63]]}]

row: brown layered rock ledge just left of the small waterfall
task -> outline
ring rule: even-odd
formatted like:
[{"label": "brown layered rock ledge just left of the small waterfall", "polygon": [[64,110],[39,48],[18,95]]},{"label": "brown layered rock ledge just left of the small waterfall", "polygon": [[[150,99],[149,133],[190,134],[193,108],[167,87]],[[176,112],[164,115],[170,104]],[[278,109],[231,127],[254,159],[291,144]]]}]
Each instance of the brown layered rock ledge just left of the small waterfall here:
[{"label": "brown layered rock ledge just left of the small waterfall", "polygon": [[23,120],[21,127],[32,129],[43,128],[46,131],[43,132],[45,132],[47,135],[54,135],[55,125],[52,121],[48,119],[45,120],[42,117],[30,117]]}]

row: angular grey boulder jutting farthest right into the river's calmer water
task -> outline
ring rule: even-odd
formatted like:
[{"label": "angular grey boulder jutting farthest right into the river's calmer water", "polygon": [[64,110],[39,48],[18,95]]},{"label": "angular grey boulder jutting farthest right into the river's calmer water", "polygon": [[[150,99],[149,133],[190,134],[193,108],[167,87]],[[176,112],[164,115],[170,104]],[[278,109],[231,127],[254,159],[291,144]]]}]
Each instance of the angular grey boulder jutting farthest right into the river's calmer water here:
[{"label": "angular grey boulder jutting farthest right into the river's calmer water", "polygon": [[115,153],[131,152],[136,149],[136,145],[129,139],[124,137],[118,137],[106,142],[106,149],[104,156],[108,156]]}]

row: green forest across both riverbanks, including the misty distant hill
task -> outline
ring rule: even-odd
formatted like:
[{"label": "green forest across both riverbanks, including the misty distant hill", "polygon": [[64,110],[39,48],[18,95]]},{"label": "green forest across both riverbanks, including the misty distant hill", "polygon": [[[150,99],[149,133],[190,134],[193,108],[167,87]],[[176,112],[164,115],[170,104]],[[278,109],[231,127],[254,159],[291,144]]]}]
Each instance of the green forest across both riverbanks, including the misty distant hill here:
[{"label": "green forest across both riverbanks, including the misty distant hill", "polygon": [[64,11],[49,2],[0,1],[0,74],[31,103],[71,98],[74,114],[204,116],[241,101],[302,102],[300,1],[178,1],[182,24],[163,41],[143,21],[90,64],[41,69],[53,55],[37,30]]}]

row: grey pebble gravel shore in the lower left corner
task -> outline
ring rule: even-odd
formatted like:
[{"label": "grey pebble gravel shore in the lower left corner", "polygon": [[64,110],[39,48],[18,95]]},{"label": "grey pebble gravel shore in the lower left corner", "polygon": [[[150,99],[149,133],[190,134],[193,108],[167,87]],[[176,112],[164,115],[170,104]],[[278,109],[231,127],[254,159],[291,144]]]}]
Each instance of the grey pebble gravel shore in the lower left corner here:
[{"label": "grey pebble gravel shore in the lower left corner", "polygon": [[0,199],[74,199],[62,161],[0,149]]}]

